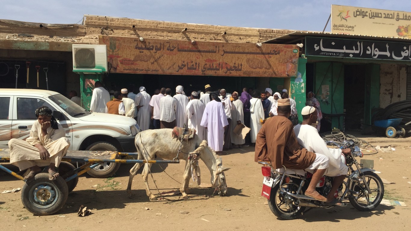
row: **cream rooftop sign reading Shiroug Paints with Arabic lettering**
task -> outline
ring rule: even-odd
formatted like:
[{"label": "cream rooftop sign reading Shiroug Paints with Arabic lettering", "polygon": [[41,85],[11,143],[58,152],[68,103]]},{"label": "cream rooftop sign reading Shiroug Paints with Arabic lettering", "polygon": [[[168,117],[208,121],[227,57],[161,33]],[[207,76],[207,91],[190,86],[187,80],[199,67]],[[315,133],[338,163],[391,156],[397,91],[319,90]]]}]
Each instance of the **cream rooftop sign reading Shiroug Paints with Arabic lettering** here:
[{"label": "cream rooftop sign reading Shiroug Paints with Arabic lettering", "polygon": [[331,5],[331,32],[411,39],[411,13]]}]

